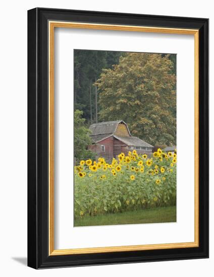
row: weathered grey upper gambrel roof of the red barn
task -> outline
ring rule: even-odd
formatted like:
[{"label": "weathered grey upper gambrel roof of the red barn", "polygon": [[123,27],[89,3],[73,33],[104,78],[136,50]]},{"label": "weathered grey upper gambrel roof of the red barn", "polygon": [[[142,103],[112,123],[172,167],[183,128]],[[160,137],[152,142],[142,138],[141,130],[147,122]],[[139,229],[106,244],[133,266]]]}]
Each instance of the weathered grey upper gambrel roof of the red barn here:
[{"label": "weathered grey upper gambrel roof of the red barn", "polygon": [[[106,135],[114,134],[116,132],[118,124],[121,122],[127,126],[127,124],[123,120],[106,121],[106,122],[91,124],[89,127],[89,129],[92,131],[91,136],[100,135],[100,134],[106,134]],[[128,126],[127,126],[127,129],[129,131]],[[130,131],[129,131],[129,134],[130,134]]]}]

